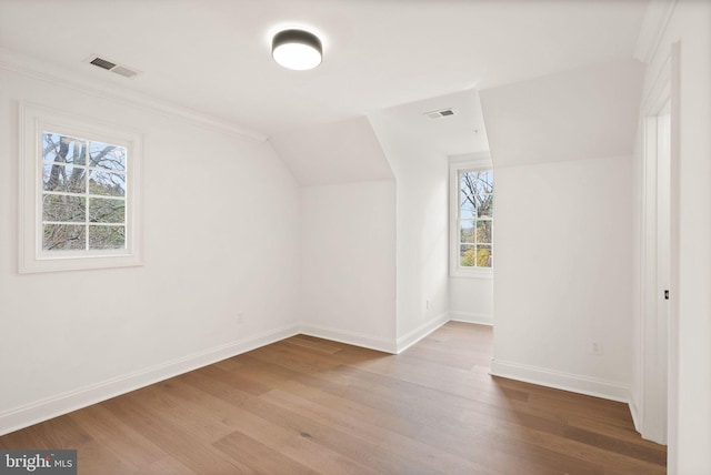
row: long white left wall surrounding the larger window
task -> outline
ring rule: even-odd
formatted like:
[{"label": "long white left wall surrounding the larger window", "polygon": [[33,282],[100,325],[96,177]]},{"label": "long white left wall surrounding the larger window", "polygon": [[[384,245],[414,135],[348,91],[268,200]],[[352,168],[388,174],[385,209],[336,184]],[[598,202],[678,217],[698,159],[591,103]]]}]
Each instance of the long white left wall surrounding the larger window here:
[{"label": "long white left wall surrounding the larger window", "polygon": [[[0,82],[0,433],[296,330],[299,193],[267,142],[4,69]],[[143,266],[18,274],[19,100],[144,133]]]}]

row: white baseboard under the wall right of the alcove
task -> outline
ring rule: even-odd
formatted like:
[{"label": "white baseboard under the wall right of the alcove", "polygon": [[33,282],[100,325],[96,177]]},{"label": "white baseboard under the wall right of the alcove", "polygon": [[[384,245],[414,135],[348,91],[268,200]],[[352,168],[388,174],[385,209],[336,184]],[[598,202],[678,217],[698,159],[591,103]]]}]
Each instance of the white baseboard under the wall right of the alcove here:
[{"label": "white baseboard under the wall right of the alcove", "polygon": [[630,402],[630,386],[611,381],[594,377],[569,374],[541,367],[528,366],[519,363],[492,360],[491,371],[493,376],[522,381],[524,383],[554,387],[557,390],[571,391],[604,400]]}]

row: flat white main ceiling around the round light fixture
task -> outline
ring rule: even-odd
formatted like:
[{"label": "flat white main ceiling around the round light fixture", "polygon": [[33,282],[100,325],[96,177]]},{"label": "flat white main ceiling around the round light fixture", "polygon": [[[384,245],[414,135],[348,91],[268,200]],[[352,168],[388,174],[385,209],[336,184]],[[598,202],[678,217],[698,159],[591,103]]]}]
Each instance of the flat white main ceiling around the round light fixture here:
[{"label": "flat white main ceiling around the round light fixture", "polygon": [[[647,3],[0,0],[0,48],[99,85],[126,88],[278,135],[631,58]],[[272,61],[270,38],[286,27],[320,34],[324,60],[319,68],[289,71]],[[83,62],[92,53],[142,74],[128,80],[99,70]],[[464,103],[444,107],[462,112],[472,107],[467,94],[460,95]]]}]

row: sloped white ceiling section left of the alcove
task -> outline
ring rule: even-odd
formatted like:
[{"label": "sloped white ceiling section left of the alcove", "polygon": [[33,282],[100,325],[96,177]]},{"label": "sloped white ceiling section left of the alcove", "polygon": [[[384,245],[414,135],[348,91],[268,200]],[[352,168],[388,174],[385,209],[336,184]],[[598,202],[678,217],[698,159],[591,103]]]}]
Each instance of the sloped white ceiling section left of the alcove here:
[{"label": "sloped white ceiling section left of the alcove", "polygon": [[301,128],[269,141],[304,186],[394,178],[365,117]]}]

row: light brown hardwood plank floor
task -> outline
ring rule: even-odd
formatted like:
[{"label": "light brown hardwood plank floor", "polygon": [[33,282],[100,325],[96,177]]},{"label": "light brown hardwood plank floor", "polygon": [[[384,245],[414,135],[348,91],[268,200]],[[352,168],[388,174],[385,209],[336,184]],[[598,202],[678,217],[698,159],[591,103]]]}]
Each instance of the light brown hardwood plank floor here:
[{"label": "light brown hardwood plank floor", "polygon": [[80,474],[663,474],[627,405],[491,377],[491,329],[401,355],[294,336],[0,437]]}]

